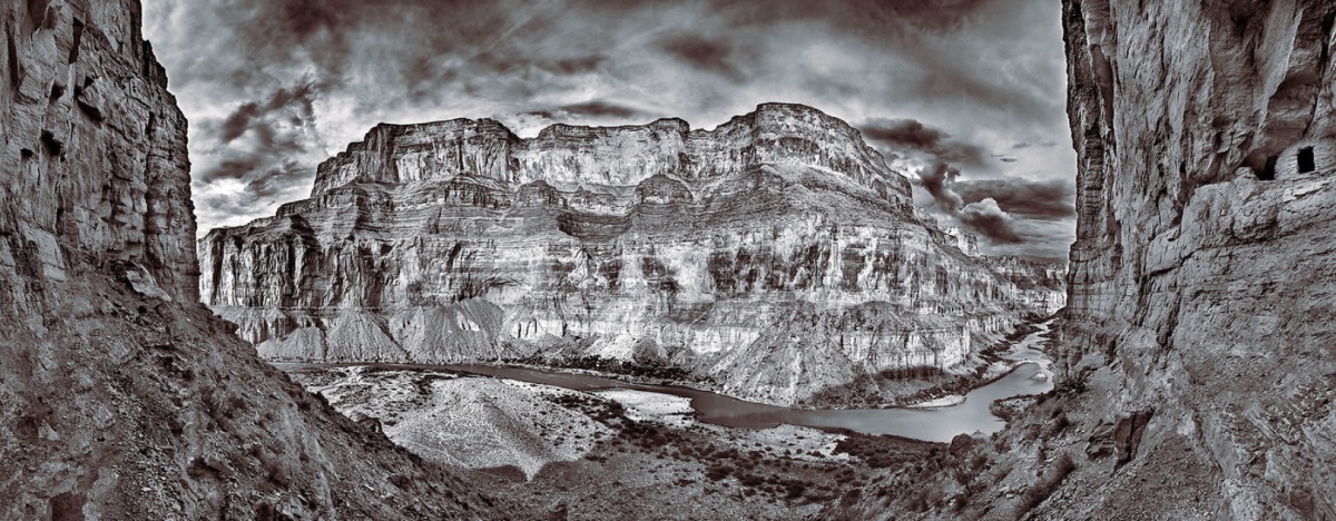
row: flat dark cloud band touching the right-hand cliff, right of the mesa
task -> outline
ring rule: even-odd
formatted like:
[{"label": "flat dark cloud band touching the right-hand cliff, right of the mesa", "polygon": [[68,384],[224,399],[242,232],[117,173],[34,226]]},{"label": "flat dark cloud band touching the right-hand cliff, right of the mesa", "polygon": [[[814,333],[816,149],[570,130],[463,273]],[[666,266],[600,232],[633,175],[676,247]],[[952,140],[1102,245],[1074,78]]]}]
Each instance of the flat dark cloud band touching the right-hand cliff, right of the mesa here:
[{"label": "flat dark cloud band touching the right-hand cliff, right of the mesa", "polygon": [[993,199],[1003,211],[1029,219],[1073,219],[1077,215],[1075,182],[1069,178],[962,180],[953,183],[951,190],[966,204]]}]

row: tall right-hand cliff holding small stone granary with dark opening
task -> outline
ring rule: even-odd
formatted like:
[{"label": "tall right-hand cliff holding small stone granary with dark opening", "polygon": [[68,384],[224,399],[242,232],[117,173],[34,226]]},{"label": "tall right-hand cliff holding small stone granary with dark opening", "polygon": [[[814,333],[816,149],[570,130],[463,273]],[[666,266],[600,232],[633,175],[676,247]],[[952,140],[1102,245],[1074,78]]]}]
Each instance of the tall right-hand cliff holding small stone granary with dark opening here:
[{"label": "tall right-hand cliff holding small stone granary with dark opening", "polygon": [[1085,508],[1336,517],[1336,4],[1066,4],[1066,363],[1106,382],[1109,425],[1144,423]]}]

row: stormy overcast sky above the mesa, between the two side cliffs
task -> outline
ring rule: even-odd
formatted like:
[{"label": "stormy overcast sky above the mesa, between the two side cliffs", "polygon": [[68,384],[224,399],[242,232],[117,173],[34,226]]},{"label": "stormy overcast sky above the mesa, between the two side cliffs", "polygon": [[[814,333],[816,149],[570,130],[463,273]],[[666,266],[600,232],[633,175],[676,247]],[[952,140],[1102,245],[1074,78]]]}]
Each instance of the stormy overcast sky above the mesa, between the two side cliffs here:
[{"label": "stormy overcast sky above the mesa, between the two side cliffs", "polygon": [[190,119],[200,235],[306,198],[381,122],[683,118],[763,102],[863,131],[985,252],[1065,259],[1075,156],[1058,0],[144,0]]}]

